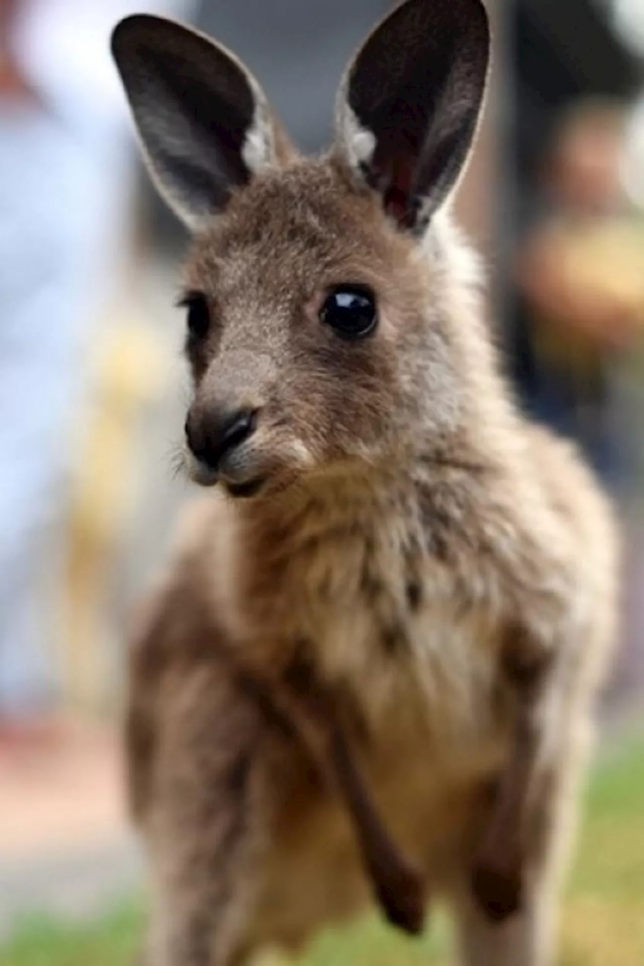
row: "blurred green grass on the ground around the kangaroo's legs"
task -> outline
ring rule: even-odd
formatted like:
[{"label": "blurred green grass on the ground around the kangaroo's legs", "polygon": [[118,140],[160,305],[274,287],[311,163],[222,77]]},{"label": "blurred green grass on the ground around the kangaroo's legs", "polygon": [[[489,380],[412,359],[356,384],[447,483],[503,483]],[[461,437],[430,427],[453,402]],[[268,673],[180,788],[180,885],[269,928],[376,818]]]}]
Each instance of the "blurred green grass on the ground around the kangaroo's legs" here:
[{"label": "blurred green grass on the ground around the kangaroo's legs", "polygon": [[[0,966],[126,966],[140,935],[140,905],[99,923],[23,923],[0,948]],[[401,938],[377,916],[328,932],[300,966],[447,966],[448,926],[439,914],[420,941]],[[562,923],[561,966],[644,964],[644,741],[630,742],[598,769]]]}]

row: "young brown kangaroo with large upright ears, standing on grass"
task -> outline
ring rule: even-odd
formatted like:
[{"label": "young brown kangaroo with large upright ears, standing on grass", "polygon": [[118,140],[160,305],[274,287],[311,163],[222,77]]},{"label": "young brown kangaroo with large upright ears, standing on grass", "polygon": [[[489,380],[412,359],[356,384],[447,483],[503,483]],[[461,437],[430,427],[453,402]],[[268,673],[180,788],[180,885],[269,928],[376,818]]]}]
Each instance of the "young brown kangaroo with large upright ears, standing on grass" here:
[{"label": "young brown kangaroo with large upright ears, standing on grass", "polygon": [[373,892],[454,911],[464,966],[551,963],[617,541],[573,448],[499,375],[449,199],[480,0],[407,0],[299,156],[255,78],[177,23],[113,51],[193,232],[189,507],[131,652],[151,966],[296,950]]}]

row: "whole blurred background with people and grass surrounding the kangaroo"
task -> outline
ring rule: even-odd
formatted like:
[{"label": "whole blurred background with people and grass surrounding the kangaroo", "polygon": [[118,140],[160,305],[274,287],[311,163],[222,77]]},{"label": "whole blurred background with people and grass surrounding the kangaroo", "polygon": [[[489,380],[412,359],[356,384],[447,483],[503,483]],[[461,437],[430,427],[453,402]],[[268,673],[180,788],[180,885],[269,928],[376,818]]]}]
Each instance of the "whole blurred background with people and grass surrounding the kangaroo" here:
[{"label": "whole blurred background with people and grass surrounding the kangaroo", "polygon": [[[618,502],[624,620],[564,918],[568,966],[644,962],[644,0],[488,0],[490,99],[459,213],[521,405]],[[127,961],[140,859],[122,801],[127,613],[189,485],[182,229],[108,54],[146,10],[234,48],[296,142],[330,137],[390,0],[0,0],[0,966]],[[444,962],[376,922],[312,964]]]}]

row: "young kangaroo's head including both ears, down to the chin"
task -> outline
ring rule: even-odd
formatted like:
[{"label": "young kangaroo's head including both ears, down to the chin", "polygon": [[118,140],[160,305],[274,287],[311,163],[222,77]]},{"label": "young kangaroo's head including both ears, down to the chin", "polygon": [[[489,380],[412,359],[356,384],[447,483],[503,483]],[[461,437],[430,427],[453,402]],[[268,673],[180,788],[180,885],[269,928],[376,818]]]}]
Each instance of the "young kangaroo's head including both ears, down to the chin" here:
[{"label": "young kangaroo's head including both ears, down to the chin", "polygon": [[381,22],[320,158],[297,154],[220,44],[136,15],[112,45],[154,182],[193,233],[193,477],[248,495],[458,432],[468,388],[436,226],[484,96],[480,0],[406,0]]}]

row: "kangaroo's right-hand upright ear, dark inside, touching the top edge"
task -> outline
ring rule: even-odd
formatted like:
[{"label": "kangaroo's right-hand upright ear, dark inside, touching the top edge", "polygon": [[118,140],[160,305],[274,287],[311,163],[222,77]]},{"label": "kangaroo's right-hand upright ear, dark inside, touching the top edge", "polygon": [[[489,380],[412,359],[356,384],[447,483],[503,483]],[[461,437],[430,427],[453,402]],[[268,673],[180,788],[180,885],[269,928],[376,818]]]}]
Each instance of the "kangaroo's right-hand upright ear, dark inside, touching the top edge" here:
[{"label": "kangaroo's right-hand upright ear, dark inside, touching the top edge", "polygon": [[358,51],[340,87],[336,153],[417,233],[454,189],[490,59],[480,0],[406,0]]}]

